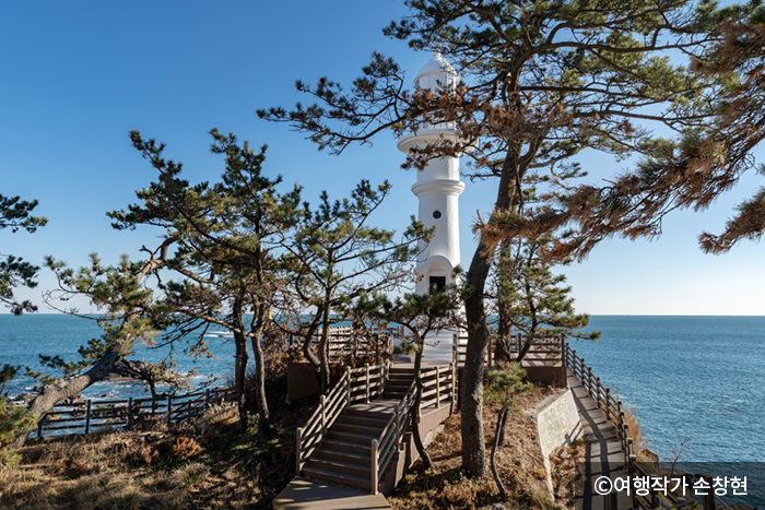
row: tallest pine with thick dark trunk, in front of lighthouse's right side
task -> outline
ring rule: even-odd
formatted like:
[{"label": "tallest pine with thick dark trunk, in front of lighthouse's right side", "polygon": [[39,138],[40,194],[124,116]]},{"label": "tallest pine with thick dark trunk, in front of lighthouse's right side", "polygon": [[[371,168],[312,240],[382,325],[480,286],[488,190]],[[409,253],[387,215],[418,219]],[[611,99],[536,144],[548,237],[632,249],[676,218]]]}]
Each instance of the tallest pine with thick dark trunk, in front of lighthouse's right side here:
[{"label": "tallest pine with thick dark trunk, in front of lighthouse's right side", "polygon": [[[749,166],[746,154],[757,139],[721,123],[729,94],[738,94],[726,84],[729,76],[695,72],[691,64],[711,59],[725,45],[726,27],[745,20],[757,4],[718,9],[711,1],[691,0],[405,3],[409,15],[391,23],[386,34],[416,50],[440,51],[464,80],[456,91],[410,92],[400,67],[373,54],[348,91],[326,78],[315,86],[297,82],[314,104],[259,115],[289,122],[336,154],[351,144],[368,143],[385,130],[400,135],[423,121],[452,122],[455,140],[411,153],[405,166],[422,168],[433,157],[467,154],[469,175],[496,181],[492,211],[475,225],[479,242],[466,274],[462,462],[469,475],[482,475],[483,359],[489,344],[484,290],[498,245],[573,225],[576,235],[550,256],[584,256],[614,234],[657,234],[656,218],[667,207],[703,206],[716,195],[709,190],[728,189]],[[673,54],[683,58],[673,61]],[[754,126],[761,135],[762,118]],[[658,128],[670,138],[657,135]],[[727,137],[728,131],[738,137]],[[568,176],[585,149],[645,163],[615,185],[574,187]],[[678,162],[676,154],[683,156]],[[698,161],[704,164],[694,163]],[[673,162],[684,163],[668,167]],[[539,216],[520,217],[521,185],[530,175],[548,179],[540,197],[550,207],[540,209]]]}]

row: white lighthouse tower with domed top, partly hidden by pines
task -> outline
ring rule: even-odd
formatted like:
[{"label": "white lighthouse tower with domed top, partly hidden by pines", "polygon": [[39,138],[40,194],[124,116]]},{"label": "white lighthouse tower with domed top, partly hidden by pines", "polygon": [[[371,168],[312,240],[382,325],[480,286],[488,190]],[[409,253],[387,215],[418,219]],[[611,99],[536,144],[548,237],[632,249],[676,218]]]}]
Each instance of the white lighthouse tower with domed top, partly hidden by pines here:
[{"label": "white lighthouse tower with domed top, partly hidden by pines", "polygon": [[[414,86],[435,94],[454,91],[458,81],[455,68],[440,54],[434,54],[414,79]],[[456,137],[454,127],[448,122],[423,122],[399,140],[398,149],[409,154],[413,147],[437,143],[443,139],[455,140]],[[417,171],[417,181],[412,186],[412,192],[419,199],[417,217],[425,227],[435,227],[433,237],[417,258],[419,294],[426,294],[433,288],[443,289],[451,282],[451,272],[460,263],[458,199],[463,190],[459,157],[431,159],[423,170]]]}]

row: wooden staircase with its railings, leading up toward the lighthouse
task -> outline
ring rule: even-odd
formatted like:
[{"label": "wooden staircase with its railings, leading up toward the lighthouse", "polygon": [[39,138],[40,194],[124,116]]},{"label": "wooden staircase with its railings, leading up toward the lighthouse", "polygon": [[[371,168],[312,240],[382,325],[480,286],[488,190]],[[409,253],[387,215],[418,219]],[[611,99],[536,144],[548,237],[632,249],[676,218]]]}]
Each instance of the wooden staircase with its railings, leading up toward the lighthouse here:
[{"label": "wooden staircase with its railings, leading up toward the lighthouse", "polygon": [[[451,405],[454,376],[448,365],[424,367],[423,410]],[[392,490],[402,473],[400,453],[411,448],[414,388],[412,365],[346,370],[321,396],[306,426],[297,429],[297,477],[373,494]],[[416,459],[411,452],[407,456]]]}]

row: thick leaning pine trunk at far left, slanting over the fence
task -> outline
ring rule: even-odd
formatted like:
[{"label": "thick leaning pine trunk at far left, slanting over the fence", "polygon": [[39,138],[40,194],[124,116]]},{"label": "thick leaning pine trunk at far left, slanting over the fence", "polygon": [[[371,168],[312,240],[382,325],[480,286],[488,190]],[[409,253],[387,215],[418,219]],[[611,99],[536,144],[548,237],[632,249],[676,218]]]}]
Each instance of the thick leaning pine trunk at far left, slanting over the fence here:
[{"label": "thick leaning pine trunk at far left, slanting over the fence", "polygon": [[104,380],[106,376],[111,372],[111,368],[120,356],[117,349],[109,347],[95,365],[84,373],[44,387],[43,391],[32,399],[24,412],[24,416],[33,418],[34,424],[16,432],[16,437],[13,441],[14,448],[24,446],[26,437],[35,429],[37,422],[39,422],[45,413],[54,408],[56,404],[63,400],[72,399],[82,393],[82,391],[87,389],[91,384]]}]

